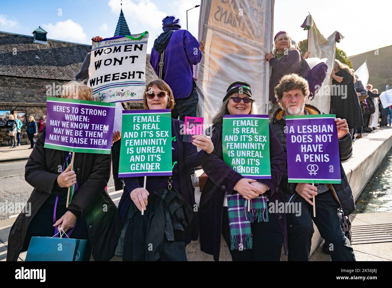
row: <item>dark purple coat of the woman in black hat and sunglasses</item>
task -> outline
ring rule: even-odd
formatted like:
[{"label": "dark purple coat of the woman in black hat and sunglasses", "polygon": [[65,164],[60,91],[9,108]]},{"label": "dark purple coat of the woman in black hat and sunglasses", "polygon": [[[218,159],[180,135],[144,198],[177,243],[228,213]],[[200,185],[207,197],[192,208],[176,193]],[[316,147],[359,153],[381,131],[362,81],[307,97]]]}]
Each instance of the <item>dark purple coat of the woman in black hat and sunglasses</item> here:
[{"label": "dark purple coat of the woman in black hat and sunglasses", "polygon": [[[205,253],[214,255],[214,260],[218,261],[225,193],[232,193],[236,183],[243,177],[223,162],[222,123],[212,126],[212,131],[214,152],[211,154],[209,161],[203,164],[203,170],[208,179],[200,197],[200,249]],[[286,168],[286,154],[271,125],[269,125],[269,137],[272,178],[259,179],[258,181],[270,187],[270,190],[265,192],[270,202],[284,203],[285,198],[279,188],[279,183]],[[275,213],[275,216],[279,222],[285,253],[287,253],[286,216],[281,213]]]}]

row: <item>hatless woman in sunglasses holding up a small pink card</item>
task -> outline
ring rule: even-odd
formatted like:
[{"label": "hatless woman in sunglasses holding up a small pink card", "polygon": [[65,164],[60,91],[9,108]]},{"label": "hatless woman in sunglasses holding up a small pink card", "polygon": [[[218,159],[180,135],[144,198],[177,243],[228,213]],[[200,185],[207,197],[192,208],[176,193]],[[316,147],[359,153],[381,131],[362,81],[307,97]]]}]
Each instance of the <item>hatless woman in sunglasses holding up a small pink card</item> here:
[{"label": "hatless woman in sunglasses holding up a small pink card", "polygon": [[[143,108],[149,110],[156,109],[173,109],[174,97],[169,85],[163,80],[154,80],[146,85],[143,94]],[[180,125],[183,121],[171,119],[172,121],[172,176],[171,186],[174,191],[181,194],[185,200],[192,206],[193,221],[191,229],[186,235],[186,243],[191,240],[198,239],[199,221],[197,215],[194,188],[192,186],[191,177],[189,175],[189,167],[194,168],[202,165],[207,161],[214,150],[211,137],[206,135],[194,135],[193,142],[183,142],[183,135]],[[197,148],[200,150],[197,152]],[[120,217],[123,222],[124,219],[129,219],[128,208],[131,202],[142,211],[146,210],[148,205],[149,195],[153,191],[168,187],[169,176],[149,176],[147,177],[146,189],[143,188],[144,177],[128,177],[123,178],[125,187],[123,195],[119,203]],[[152,208],[152,207],[151,207]],[[195,211],[196,210],[196,211]],[[126,226],[128,222],[125,221],[124,228],[121,234],[119,245],[117,247],[116,255],[122,254],[122,243],[125,235]],[[154,249],[154,248],[153,248]]]}]

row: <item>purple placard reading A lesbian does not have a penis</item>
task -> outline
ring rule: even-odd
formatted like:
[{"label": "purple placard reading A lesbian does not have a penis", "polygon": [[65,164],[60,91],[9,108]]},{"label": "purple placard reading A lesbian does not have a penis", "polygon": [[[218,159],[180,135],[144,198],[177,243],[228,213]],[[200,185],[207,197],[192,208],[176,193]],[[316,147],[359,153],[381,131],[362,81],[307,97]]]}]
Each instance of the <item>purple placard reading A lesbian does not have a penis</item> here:
[{"label": "purple placard reading A lesbian does not have a penis", "polygon": [[335,115],[287,116],[289,183],[341,183]]}]

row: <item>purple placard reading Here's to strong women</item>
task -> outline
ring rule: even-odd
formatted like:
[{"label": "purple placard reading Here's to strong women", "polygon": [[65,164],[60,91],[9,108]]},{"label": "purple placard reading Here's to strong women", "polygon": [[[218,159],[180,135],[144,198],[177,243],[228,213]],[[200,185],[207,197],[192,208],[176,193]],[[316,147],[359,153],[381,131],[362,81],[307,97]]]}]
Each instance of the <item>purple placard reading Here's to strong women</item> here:
[{"label": "purple placard reading Here's to strong women", "polygon": [[114,103],[48,97],[45,148],[110,154],[114,113]]}]

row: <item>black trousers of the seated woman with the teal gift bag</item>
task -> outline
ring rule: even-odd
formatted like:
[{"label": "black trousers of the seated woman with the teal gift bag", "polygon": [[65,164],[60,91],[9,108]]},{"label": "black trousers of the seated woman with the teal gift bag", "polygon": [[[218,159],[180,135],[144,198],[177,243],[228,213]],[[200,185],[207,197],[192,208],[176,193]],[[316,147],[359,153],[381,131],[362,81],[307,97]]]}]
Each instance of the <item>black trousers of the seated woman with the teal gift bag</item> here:
[{"label": "black trousers of the seated woman with the teal gift bag", "polygon": [[[54,204],[44,203],[34,216],[29,225],[29,237],[52,237]],[[60,219],[67,212],[65,205],[57,205],[56,220]],[[66,237],[66,236],[64,236]],[[83,261],[89,261],[91,256],[91,243],[85,218],[78,218],[76,226],[69,238],[88,240]],[[30,242],[30,241],[29,241]]]}]

